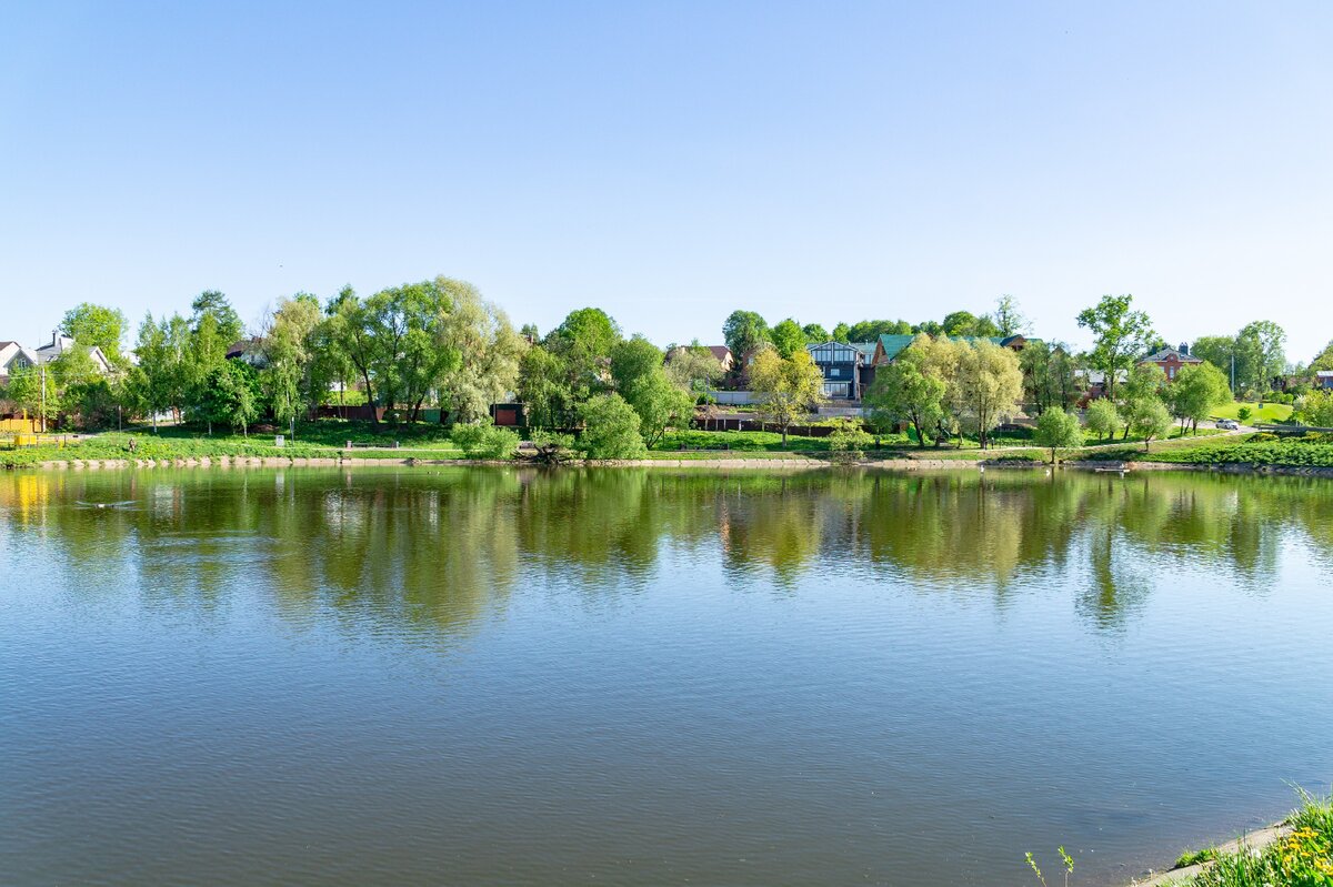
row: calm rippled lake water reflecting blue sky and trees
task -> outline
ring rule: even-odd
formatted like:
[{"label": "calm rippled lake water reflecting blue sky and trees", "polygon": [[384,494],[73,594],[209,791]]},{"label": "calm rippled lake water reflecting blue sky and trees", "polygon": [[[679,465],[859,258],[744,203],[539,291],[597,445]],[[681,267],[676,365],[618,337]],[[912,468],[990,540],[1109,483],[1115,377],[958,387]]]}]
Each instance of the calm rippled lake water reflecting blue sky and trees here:
[{"label": "calm rippled lake water reflecting blue sky and trees", "polygon": [[1084,887],[1333,780],[1328,482],[8,473],[0,558],[5,884]]}]

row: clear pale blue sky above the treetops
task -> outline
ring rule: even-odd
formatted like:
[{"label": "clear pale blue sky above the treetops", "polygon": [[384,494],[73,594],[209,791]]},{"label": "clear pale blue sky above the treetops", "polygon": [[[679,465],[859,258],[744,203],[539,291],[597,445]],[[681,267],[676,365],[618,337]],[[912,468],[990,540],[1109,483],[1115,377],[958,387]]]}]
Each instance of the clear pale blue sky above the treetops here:
[{"label": "clear pale blue sky above the treetops", "polygon": [[543,330],[1333,338],[1333,4],[5,3],[0,338],[445,273]]}]

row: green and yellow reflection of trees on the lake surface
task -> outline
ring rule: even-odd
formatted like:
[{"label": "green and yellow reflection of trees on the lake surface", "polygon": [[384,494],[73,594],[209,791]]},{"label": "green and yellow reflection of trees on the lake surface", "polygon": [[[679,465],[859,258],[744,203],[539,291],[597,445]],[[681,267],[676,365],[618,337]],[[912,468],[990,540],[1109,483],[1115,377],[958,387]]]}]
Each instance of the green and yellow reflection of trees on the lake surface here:
[{"label": "green and yellow reflection of trees on the lake surface", "polygon": [[[1333,558],[1328,482],[972,471],[889,475],[665,470],[108,471],[0,478],[5,539],[43,533],[71,587],[109,565],[143,594],[207,611],[261,587],[308,621],[456,631],[527,579],[608,595],[663,551],[734,582],[797,587],[812,570],[893,575],[1002,599],[1024,575],[1082,577],[1076,606],[1122,625],[1173,563],[1262,593],[1281,547]],[[76,499],[135,499],[124,511]],[[12,545],[12,542],[9,542]],[[690,582],[682,574],[670,581]]]}]

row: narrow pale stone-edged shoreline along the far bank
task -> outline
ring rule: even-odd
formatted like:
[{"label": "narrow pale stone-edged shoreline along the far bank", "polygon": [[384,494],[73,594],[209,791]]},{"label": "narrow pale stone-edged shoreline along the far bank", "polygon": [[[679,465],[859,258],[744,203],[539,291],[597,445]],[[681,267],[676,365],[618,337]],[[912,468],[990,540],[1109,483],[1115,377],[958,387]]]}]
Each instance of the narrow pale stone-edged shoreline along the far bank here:
[{"label": "narrow pale stone-edged shoreline along the far bank", "polygon": [[[272,455],[221,455],[221,457],[188,457],[171,459],[48,459],[25,466],[5,466],[12,471],[44,470],[44,471],[83,471],[83,470],[124,470],[124,469],[159,469],[159,467],[543,467],[525,465],[513,461],[500,459],[423,459],[423,458],[359,458],[359,457],[272,457]],[[556,466],[560,467],[560,466]],[[599,459],[587,462],[571,462],[565,467],[670,467],[670,469],[781,469],[784,471],[810,471],[840,467],[854,467],[878,471],[941,471],[941,470],[978,470],[981,467],[997,470],[1034,470],[1048,467],[1046,462],[1005,462],[989,459],[912,459],[894,458],[874,462],[856,462],[852,465],[838,465],[824,459],[812,458],[709,458],[709,459]],[[1074,471],[1118,474],[1134,471],[1190,471],[1214,474],[1249,474],[1256,477],[1320,477],[1333,478],[1333,467],[1322,466],[1296,466],[1296,465],[1254,465],[1240,462],[1098,462],[1090,459],[1068,461],[1060,463],[1061,469]]]}]

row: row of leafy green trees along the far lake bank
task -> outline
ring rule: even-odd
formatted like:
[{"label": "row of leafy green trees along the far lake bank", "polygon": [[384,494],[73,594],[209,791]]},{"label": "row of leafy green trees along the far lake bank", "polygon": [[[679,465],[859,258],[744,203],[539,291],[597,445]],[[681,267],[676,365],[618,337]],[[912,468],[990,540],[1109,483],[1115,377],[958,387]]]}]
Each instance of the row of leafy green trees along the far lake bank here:
[{"label": "row of leafy green trees along the far lake bank", "polygon": [[[1164,414],[1197,430],[1230,396],[1233,378],[1237,393],[1260,396],[1293,378],[1284,376],[1285,333],[1272,321],[1197,340],[1193,352],[1206,362],[1185,368],[1169,385],[1156,366],[1138,364],[1165,342],[1132,296],[1105,296],[1077,321],[1093,336],[1082,354],[1036,338],[1016,354],[990,341],[1029,329],[1010,296],[989,314],[958,310],[914,325],[844,322],[832,333],[793,318],[769,326],[758,313],[737,310],[722,334],[736,356],[750,356],[740,372],[760,417],[784,436],[821,400],[822,376],[806,350],[818,341],[914,336],[894,364],[878,368],[865,401],[877,422],[909,425],[922,446],[961,434],[986,446],[1001,417],[1020,405],[1038,417],[1065,413],[1085,398],[1080,374],[1089,369],[1104,374],[1106,394],[1089,410],[1089,428],[1149,440],[1164,433]],[[60,329],[75,348],[47,372],[15,372],[5,398],[28,414],[72,416],[91,428],[171,416],[245,433],[256,421],[288,425],[349,397],[376,408],[375,422],[417,421],[425,409],[440,409],[452,422],[485,425],[493,404],[515,398],[537,433],[580,429],[601,453],[629,458],[686,425],[724,376],[697,340],[664,352],[643,336],[627,337],[597,308],[571,312],[545,336],[532,325],[515,329],[475,286],[443,276],[367,297],[352,288],[325,301],[297,293],[280,298],[251,330],[223,293],[205,290],[187,313],[145,316],[129,352],[116,309],[79,305]],[[99,372],[93,348],[112,372]],[[1308,385],[1309,373],[1324,368],[1333,369],[1333,342],[1309,368],[1297,368],[1297,384]],[[1308,393],[1306,413],[1322,416],[1326,400]]]}]

